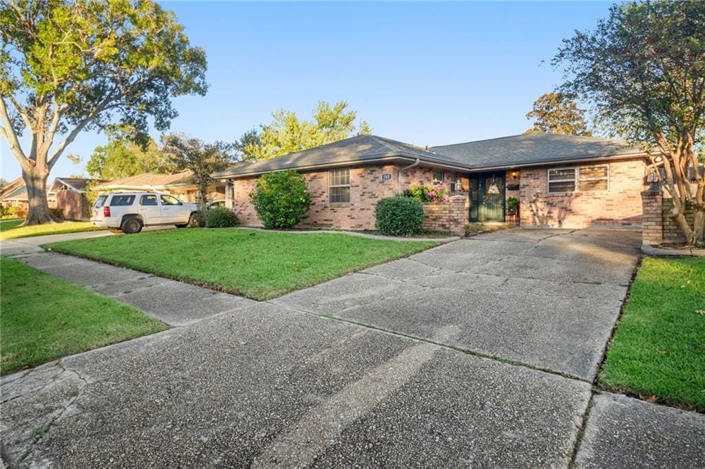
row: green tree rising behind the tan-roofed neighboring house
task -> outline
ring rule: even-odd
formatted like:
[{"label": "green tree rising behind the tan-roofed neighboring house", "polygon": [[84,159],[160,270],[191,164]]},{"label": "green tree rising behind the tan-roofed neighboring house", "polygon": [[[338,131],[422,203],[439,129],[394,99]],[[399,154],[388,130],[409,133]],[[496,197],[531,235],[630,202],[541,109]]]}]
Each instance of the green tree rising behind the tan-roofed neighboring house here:
[{"label": "green tree rising behind the tan-roofed neighboring house", "polygon": [[142,145],[118,132],[109,131],[108,143],[97,146],[86,163],[86,170],[99,179],[120,179],[142,173],[173,173],[171,158],[148,139]]}]

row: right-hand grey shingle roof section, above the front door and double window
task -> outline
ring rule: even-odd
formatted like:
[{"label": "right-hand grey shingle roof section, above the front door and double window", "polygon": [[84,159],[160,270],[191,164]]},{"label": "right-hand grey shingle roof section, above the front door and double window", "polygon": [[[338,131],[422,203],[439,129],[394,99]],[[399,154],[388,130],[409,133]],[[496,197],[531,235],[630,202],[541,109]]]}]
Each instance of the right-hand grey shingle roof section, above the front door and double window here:
[{"label": "right-hand grey shingle roof section, above the front door and double window", "polygon": [[539,132],[434,146],[431,151],[462,161],[473,168],[510,167],[643,153],[623,140]]}]

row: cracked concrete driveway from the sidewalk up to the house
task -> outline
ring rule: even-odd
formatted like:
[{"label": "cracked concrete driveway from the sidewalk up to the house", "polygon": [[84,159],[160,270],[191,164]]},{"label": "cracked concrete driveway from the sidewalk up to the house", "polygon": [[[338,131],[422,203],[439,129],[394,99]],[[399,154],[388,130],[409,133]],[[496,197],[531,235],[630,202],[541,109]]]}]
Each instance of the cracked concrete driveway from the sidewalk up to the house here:
[{"label": "cracked concrete driveway from the sidewalk up to the house", "polygon": [[626,230],[499,231],[274,303],[591,381],[640,244]]}]

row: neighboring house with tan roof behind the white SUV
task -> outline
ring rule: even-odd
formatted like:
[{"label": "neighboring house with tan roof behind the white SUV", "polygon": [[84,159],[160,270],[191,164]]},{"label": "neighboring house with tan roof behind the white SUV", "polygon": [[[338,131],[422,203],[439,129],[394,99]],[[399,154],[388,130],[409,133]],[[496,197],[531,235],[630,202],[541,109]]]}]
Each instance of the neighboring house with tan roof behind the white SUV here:
[{"label": "neighboring house with tan roof behind the white SUV", "polygon": [[[168,192],[185,202],[197,202],[198,187],[190,171],[176,174],[142,173],[123,177],[98,185],[100,192],[111,191],[154,191]],[[208,201],[225,200],[225,184],[218,182],[208,187]]]}]

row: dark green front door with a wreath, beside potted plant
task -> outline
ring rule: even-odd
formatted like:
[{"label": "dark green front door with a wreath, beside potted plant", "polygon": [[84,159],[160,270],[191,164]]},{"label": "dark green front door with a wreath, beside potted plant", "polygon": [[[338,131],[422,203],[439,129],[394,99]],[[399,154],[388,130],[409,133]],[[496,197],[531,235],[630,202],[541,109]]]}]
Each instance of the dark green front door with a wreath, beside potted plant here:
[{"label": "dark green front door with a wreath, beside potted plant", "polygon": [[504,171],[470,175],[470,221],[504,223]]}]

